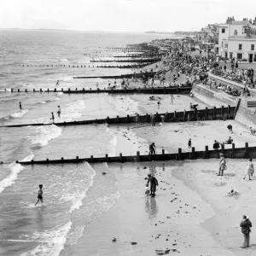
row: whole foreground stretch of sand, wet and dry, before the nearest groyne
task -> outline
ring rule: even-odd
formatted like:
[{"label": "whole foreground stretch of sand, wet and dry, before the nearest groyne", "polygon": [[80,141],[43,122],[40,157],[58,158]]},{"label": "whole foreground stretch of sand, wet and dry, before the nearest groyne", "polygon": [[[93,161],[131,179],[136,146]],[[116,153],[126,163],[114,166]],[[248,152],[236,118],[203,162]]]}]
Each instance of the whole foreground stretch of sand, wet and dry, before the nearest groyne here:
[{"label": "whole foreground stretch of sand, wet and dry, before the nearest groyne", "polygon": [[[222,178],[218,160],[109,165],[119,201],[86,227],[74,255],[253,255],[254,245],[240,249],[241,216],[256,211],[255,181],[242,180],[246,162],[228,160]],[[159,181],[155,198],[144,195],[148,172]],[[229,196],[231,187],[239,195]]]}]

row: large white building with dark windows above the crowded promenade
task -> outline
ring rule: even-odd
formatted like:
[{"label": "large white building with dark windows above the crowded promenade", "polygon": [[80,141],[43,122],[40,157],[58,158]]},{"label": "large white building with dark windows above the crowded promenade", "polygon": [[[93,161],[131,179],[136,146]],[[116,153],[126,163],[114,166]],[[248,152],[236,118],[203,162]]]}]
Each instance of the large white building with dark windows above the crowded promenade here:
[{"label": "large white building with dark windows above the crowded promenade", "polygon": [[218,55],[256,62],[256,18],[237,21],[229,17],[218,29]]}]

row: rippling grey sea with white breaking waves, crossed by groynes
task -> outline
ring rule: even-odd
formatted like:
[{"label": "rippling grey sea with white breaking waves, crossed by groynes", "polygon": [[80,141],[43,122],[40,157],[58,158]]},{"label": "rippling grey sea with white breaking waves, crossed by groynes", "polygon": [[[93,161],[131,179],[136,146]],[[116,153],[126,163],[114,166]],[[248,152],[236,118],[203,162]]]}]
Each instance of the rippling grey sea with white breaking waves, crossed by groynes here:
[{"label": "rippling grey sea with white breaking waves, crossed by groynes", "polygon": [[[108,80],[73,77],[131,73],[131,69],[96,67],[106,63],[93,65],[90,60],[114,60],[113,55],[124,55],[107,47],[160,38],[174,38],[174,35],[1,30],[0,125],[51,124],[52,112],[55,121],[139,113],[138,103],[129,96],[11,93],[10,90],[95,89],[96,83],[99,88],[108,87]],[[57,115],[58,106],[61,117]],[[133,135],[130,136],[132,139]],[[16,160],[115,155],[118,140],[108,125],[0,127],[0,161],[3,161],[0,165],[0,255],[73,255],[73,247],[86,232],[86,226],[101,218],[120,197],[115,177],[102,180],[97,176],[108,172],[107,163],[21,166]],[[135,152],[124,146],[123,153]],[[39,184],[44,185],[44,205],[35,206]],[[90,190],[94,192],[89,193]]]}]

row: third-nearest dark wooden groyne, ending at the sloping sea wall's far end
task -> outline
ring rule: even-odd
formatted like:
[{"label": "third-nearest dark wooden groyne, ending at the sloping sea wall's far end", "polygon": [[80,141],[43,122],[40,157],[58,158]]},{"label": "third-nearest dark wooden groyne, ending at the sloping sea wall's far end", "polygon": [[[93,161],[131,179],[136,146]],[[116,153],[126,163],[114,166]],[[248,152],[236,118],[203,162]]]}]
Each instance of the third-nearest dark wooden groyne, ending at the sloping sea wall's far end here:
[{"label": "third-nearest dark wooden groyne, ending at the sloping sea wall's far end", "polygon": [[[21,89],[11,89],[11,93],[43,93],[43,92],[63,92],[66,94],[71,94],[71,93],[109,93],[109,94],[189,94],[190,90],[192,89],[191,86],[186,86],[186,87],[179,87],[179,86],[172,86],[172,87],[150,87],[150,88],[134,88],[134,89],[94,89],[94,90],[85,90],[76,88],[75,90],[71,90],[68,88],[67,90],[64,90],[61,88],[60,90],[55,89],[32,89],[32,90],[21,90]],[[8,90],[4,90],[7,92]]]}]

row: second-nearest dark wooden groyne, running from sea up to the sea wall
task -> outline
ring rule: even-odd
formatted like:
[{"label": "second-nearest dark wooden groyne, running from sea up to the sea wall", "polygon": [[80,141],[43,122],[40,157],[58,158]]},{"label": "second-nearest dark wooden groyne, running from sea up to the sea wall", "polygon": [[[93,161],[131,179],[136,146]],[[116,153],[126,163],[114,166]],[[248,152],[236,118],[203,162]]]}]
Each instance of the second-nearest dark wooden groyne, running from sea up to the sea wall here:
[{"label": "second-nearest dark wooden groyne, running from sea up to the sea wall", "polygon": [[[200,109],[197,111],[195,116],[194,111],[183,111],[174,113],[156,113],[154,121],[157,122],[188,122],[192,120],[224,120],[224,119],[234,119],[235,108],[212,108],[212,109]],[[108,124],[108,125],[121,125],[121,124],[131,124],[131,123],[151,123],[150,115],[144,114],[136,116],[130,116],[127,114],[126,117],[115,117],[106,119],[90,119],[90,120],[80,120],[71,122],[59,122],[59,123],[38,123],[38,124],[20,124],[20,125],[3,125],[0,127],[24,127],[24,126],[44,126],[44,125],[57,125],[57,126],[69,126],[69,125],[93,125],[93,124]]]}]

